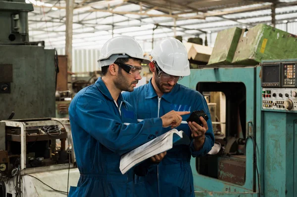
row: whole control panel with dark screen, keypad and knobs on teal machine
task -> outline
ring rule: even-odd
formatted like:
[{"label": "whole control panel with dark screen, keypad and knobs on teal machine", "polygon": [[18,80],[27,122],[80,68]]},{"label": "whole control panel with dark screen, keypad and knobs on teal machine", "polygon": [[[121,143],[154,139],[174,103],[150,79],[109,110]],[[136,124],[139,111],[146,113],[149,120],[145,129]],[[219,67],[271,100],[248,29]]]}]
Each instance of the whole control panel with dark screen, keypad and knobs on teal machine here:
[{"label": "whole control panel with dark screen, keypad and knobs on teal machine", "polygon": [[263,60],[262,109],[297,111],[297,59]]}]

